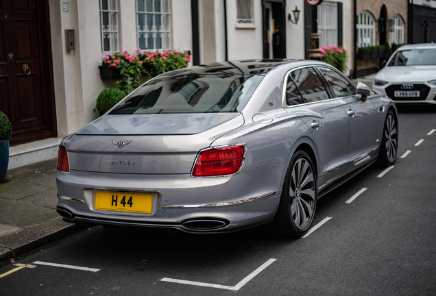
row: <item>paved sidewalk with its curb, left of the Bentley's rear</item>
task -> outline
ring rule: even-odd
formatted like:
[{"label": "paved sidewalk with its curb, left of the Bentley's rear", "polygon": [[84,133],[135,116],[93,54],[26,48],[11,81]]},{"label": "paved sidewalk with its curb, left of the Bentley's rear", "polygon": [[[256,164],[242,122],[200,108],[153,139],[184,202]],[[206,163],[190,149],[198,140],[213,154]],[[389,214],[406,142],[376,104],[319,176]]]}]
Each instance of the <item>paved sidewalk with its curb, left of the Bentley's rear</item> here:
[{"label": "paved sidewalk with its curb, left of the Bentley's rear", "polygon": [[57,160],[11,169],[0,184],[0,262],[85,225],[62,221],[56,212]]}]

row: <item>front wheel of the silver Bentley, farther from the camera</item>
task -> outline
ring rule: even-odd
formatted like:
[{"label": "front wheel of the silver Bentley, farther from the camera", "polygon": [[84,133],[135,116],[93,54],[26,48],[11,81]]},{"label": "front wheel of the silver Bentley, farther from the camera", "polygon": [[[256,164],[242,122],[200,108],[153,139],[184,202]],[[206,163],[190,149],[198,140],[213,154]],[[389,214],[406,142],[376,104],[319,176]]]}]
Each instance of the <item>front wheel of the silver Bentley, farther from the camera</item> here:
[{"label": "front wheel of the silver Bentley, farther from the camera", "polygon": [[383,137],[378,153],[378,165],[380,167],[391,166],[397,158],[398,149],[398,123],[397,118],[391,110],[386,114]]}]

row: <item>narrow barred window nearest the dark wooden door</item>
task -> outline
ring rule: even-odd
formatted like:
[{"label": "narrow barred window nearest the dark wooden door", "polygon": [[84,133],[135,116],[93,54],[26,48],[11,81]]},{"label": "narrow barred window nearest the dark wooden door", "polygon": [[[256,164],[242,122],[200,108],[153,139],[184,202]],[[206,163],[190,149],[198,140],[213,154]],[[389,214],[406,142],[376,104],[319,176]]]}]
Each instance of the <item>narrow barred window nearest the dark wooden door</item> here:
[{"label": "narrow barred window nearest the dark wooden door", "polygon": [[99,0],[101,52],[119,51],[118,0]]}]

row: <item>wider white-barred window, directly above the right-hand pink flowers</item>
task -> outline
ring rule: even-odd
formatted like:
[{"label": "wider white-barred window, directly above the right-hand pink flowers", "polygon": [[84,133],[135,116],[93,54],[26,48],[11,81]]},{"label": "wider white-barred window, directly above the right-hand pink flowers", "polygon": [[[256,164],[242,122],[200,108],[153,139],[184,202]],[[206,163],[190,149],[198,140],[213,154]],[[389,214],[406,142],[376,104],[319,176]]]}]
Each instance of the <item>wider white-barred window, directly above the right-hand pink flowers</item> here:
[{"label": "wider white-barred window, directly above the right-hand pink flowers", "polygon": [[171,49],[171,0],[136,0],[140,49]]}]

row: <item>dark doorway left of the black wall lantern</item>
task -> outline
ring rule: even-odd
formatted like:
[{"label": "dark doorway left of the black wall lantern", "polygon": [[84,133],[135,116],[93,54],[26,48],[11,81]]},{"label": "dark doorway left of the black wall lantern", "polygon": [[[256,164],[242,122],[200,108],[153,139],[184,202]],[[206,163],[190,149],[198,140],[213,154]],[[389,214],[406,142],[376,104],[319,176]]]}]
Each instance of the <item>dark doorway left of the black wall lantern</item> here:
[{"label": "dark doorway left of the black wall lantern", "polygon": [[286,58],[285,8],[281,0],[263,4],[263,58]]}]

